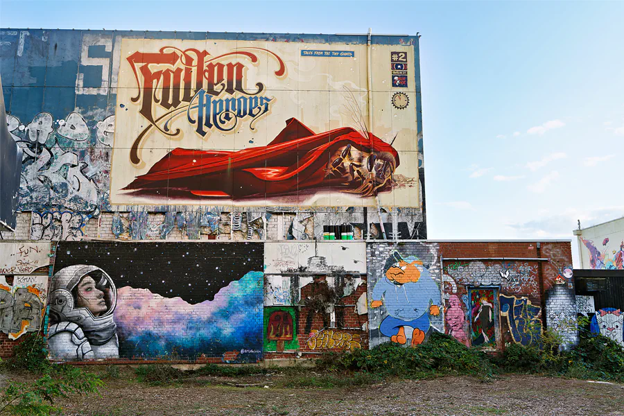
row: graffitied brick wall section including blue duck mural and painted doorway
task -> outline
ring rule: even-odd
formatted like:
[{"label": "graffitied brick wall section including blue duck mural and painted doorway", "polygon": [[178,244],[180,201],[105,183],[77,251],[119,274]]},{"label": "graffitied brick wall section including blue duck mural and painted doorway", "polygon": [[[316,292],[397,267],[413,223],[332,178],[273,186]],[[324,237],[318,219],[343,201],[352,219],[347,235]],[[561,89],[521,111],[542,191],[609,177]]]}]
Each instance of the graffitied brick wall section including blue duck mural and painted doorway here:
[{"label": "graffitied brick wall section including blue duck mural and painted doorway", "polygon": [[569,347],[571,270],[569,243],[367,244],[370,346],[419,345],[438,331],[500,350],[537,342],[546,323]]}]

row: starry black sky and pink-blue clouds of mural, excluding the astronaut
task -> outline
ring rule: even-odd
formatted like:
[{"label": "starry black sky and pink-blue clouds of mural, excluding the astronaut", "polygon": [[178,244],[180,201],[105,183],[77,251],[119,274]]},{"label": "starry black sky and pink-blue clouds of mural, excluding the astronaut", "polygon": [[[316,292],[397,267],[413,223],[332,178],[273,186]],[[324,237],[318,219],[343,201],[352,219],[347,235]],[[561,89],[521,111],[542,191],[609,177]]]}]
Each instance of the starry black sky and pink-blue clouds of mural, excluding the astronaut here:
[{"label": "starry black sky and pink-blue clouds of mural, excluding the astronaut", "polygon": [[86,264],[112,277],[120,357],[261,358],[261,243],[61,241],[56,254],[54,272]]}]

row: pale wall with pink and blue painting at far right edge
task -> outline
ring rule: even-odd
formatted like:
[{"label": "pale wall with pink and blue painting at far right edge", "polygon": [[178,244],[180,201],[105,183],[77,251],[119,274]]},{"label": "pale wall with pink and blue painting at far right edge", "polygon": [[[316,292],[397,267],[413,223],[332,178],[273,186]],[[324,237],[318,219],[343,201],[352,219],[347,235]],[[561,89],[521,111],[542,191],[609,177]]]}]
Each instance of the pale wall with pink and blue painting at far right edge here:
[{"label": "pale wall with pink and blue painting at far right edge", "polygon": [[584,269],[624,268],[624,218],[575,231]]}]

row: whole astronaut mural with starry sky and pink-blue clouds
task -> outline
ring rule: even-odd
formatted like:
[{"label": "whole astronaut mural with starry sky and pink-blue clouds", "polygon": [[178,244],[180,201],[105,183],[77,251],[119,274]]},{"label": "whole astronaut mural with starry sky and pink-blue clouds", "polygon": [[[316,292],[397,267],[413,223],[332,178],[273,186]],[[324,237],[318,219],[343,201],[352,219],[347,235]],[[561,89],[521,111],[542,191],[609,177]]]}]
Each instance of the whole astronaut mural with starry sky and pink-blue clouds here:
[{"label": "whole astronaut mural with starry sky and pink-blue clouds", "polygon": [[61,242],[51,358],[258,361],[263,245]]}]

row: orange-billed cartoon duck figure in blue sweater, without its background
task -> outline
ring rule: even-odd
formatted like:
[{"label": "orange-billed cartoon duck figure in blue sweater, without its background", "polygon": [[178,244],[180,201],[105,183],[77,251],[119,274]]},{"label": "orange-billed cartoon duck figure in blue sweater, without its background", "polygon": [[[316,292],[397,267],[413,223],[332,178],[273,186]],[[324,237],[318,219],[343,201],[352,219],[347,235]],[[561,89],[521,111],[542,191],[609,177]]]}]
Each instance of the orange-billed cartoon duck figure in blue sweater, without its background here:
[{"label": "orange-billed cartoon duck figure in blue sweater, without its background", "polygon": [[[384,277],[372,291],[371,308],[383,306],[388,315],[379,325],[379,331],[393,343],[419,345],[431,326],[430,317],[440,315],[440,288],[429,270],[416,257],[401,257],[394,252],[385,262]],[[413,328],[411,337],[406,327]]]}]

